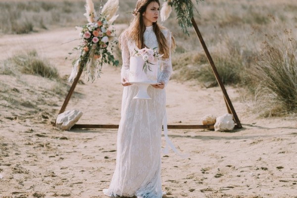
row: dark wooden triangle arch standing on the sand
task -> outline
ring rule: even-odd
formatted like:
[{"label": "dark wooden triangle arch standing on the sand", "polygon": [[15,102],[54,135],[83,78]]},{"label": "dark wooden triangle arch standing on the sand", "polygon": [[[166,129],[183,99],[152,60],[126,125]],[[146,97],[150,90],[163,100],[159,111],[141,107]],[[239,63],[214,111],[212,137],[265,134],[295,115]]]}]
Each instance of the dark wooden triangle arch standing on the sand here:
[{"label": "dark wooden triangle arch standing on the sand", "polygon": [[[224,100],[225,100],[225,103],[226,103],[226,106],[227,106],[227,109],[228,109],[228,113],[232,114],[233,117],[234,117],[234,121],[236,123],[235,128],[241,129],[242,128],[242,125],[240,123],[240,120],[239,120],[239,118],[238,118],[238,116],[237,116],[237,114],[235,112],[235,109],[234,109],[234,107],[232,105],[232,102],[231,102],[231,100],[230,100],[230,98],[229,98],[229,96],[227,94],[227,91],[225,89],[225,86],[224,86],[224,84],[221,81],[221,78],[219,76],[219,73],[218,73],[215,65],[214,65],[214,62],[212,60],[212,57],[211,57],[211,55],[210,55],[210,53],[209,53],[209,51],[208,51],[208,49],[207,49],[207,47],[206,47],[206,45],[204,43],[204,40],[202,38],[202,35],[201,35],[201,33],[200,33],[199,29],[198,29],[197,23],[196,23],[196,21],[195,21],[194,18],[191,19],[191,22],[193,24],[193,27],[194,27],[196,33],[197,33],[197,36],[199,38],[199,41],[200,41],[200,43],[201,43],[201,45],[202,45],[202,47],[204,49],[204,52],[205,52],[205,54],[207,56],[208,62],[210,64],[210,66],[211,66],[211,69],[212,69],[213,74],[214,74],[214,76],[216,78],[216,81],[218,82],[218,84],[219,84],[219,86],[220,86],[220,88],[221,88],[221,90],[223,92]],[[76,87],[76,85],[78,83],[78,80],[79,80],[79,78],[82,75],[82,72],[83,72],[83,69],[82,68],[83,67],[80,67],[80,69],[79,69],[79,71],[77,73],[77,76],[74,79],[74,81],[72,83],[72,86],[71,86],[71,88],[70,88],[70,90],[69,90],[69,92],[68,92],[68,94],[66,96],[66,99],[65,99],[65,101],[64,101],[64,103],[63,103],[63,105],[61,107],[61,110],[60,110],[59,114],[60,113],[63,113],[65,111],[66,106],[67,106],[67,104],[68,104],[68,102],[69,102],[69,100],[71,98],[71,95],[72,95],[72,93],[73,93],[73,91],[74,91],[74,89],[75,89],[75,87]],[[54,126],[55,126],[55,122],[54,122]],[[105,128],[105,129],[117,129],[118,127],[119,127],[119,125],[75,124],[72,127],[72,129],[73,128],[81,128],[81,129],[82,128],[85,128],[85,129],[98,129],[98,128],[101,128],[101,129],[102,128]],[[168,125],[167,127],[168,127],[168,129],[214,129],[213,125]]]}]

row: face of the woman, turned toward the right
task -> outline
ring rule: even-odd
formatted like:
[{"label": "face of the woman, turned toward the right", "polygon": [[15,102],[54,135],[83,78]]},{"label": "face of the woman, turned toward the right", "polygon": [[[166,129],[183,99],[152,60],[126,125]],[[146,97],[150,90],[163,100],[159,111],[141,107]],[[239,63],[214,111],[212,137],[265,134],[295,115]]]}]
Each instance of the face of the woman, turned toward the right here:
[{"label": "face of the woman, turned toward the right", "polygon": [[157,22],[159,16],[159,4],[152,1],[148,4],[146,11],[143,13],[143,20],[145,26],[151,26],[152,23]]}]

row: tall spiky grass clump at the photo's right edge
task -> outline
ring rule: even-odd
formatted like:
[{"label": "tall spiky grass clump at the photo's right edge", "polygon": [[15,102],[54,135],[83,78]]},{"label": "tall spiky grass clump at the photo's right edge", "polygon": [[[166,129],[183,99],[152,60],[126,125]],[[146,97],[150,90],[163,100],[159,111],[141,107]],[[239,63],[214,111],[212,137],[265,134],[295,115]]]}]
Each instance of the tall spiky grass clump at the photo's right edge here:
[{"label": "tall spiky grass clump at the photo's right edge", "polygon": [[[267,116],[297,111],[296,52],[297,41],[293,38],[280,43],[264,43],[260,61],[254,66],[252,76],[258,82],[257,99],[268,107]],[[283,110],[272,113],[275,109]]]}]

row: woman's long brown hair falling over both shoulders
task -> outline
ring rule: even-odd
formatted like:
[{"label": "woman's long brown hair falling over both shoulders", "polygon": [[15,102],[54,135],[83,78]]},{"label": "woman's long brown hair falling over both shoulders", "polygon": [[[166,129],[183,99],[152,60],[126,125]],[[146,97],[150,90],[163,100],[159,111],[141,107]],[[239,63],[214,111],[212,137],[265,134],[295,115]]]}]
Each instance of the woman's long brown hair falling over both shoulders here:
[{"label": "woman's long brown hair falling over both shoulders", "polygon": [[[128,28],[127,31],[127,35],[128,37],[132,38],[135,42],[136,42],[136,46],[139,49],[143,49],[145,48],[145,43],[144,43],[144,33],[146,31],[146,26],[144,24],[144,20],[143,20],[143,13],[147,10],[148,4],[151,2],[157,2],[160,6],[160,2],[159,0],[138,0],[136,3],[136,13],[135,13],[135,17],[132,20],[130,27]],[[162,29],[165,29],[163,26],[157,24],[157,22],[152,23],[153,25],[153,31],[156,35],[158,44],[159,44],[159,53],[160,54],[164,54],[163,57],[164,58],[168,58],[169,57],[169,46],[167,44],[167,40],[165,38],[165,36],[163,35],[163,33],[161,32]],[[120,42],[119,45],[121,46],[121,37],[123,35],[120,36]],[[174,48],[175,43],[174,43],[174,39],[173,37],[170,38],[172,39],[172,46]]]}]

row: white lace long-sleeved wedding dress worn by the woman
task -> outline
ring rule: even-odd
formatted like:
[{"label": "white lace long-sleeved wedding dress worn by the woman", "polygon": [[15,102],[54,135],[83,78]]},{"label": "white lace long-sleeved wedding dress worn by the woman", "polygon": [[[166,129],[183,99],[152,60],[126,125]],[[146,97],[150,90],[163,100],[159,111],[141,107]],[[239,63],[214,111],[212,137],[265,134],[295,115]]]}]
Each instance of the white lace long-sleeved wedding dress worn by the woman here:
[{"label": "white lace long-sleeved wedding dress worn by the woman", "polygon": [[[171,49],[171,33],[162,30]],[[144,42],[148,48],[158,47],[153,27],[147,27]],[[121,77],[129,81],[129,60],[136,44],[123,38]],[[168,83],[172,72],[171,55],[158,61],[158,82]],[[136,85],[124,87],[121,121],[117,136],[116,167],[108,189],[109,197],[162,198],[161,129],[165,116],[165,89],[148,87],[148,99],[133,99]]]}]

